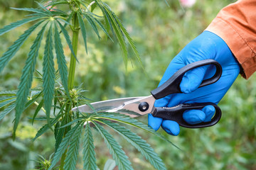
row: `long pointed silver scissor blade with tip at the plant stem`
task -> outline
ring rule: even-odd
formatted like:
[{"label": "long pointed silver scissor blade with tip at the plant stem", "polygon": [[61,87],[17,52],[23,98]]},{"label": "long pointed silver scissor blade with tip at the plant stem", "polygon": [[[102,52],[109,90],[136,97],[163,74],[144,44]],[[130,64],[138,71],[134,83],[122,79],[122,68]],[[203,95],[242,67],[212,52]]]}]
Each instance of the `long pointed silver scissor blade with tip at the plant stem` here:
[{"label": "long pointed silver scissor blade with tip at the plant stem", "polygon": [[[133,101],[135,99],[142,98],[142,97],[131,97],[131,98],[117,98],[107,101],[98,101],[95,103],[90,103],[88,105],[78,106],[72,109],[72,111],[80,111],[82,113],[94,113],[95,111],[109,111],[114,108],[119,108],[124,105],[125,102]],[[95,111],[93,109],[95,109]]]}]

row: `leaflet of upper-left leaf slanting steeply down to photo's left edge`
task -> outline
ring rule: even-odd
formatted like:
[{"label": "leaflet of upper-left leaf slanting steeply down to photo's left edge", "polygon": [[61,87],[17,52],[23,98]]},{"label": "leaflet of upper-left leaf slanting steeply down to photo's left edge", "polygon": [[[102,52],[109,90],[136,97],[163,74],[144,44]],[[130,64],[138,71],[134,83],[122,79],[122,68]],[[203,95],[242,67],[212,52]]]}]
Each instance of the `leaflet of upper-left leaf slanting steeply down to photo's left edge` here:
[{"label": "leaflet of upper-left leaf slanting steeply down to photo's left edge", "polygon": [[18,40],[14,42],[11,47],[8,48],[6,52],[4,52],[4,55],[0,58],[0,72],[4,69],[6,64],[11,60],[12,57],[16,54],[16,52],[20,49],[21,45],[26,41],[29,35],[41,24],[43,21],[39,21],[35,25],[31,26],[31,28],[28,28],[28,30],[21,35]]}]

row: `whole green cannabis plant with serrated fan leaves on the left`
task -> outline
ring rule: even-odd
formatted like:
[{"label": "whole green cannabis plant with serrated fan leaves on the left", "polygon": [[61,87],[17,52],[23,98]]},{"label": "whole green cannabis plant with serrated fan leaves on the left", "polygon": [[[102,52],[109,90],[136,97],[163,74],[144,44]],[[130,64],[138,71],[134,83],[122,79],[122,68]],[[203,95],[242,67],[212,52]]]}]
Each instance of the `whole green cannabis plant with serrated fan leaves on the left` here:
[{"label": "whole green cannabis plant with serrated fan leaves on the left", "polygon": [[[75,65],[82,60],[77,56],[78,39],[82,38],[87,51],[88,29],[93,30],[99,39],[100,35],[105,33],[109,40],[116,40],[122,50],[125,66],[129,59],[128,47],[134,53],[129,56],[134,56],[137,61],[141,62],[132,38],[110,6],[101,0],[54,0],[41,1],[37,4],[38,8],[13,8],[14,10],[28,11],[30,14],[21,21],[16,21],[0,29],[0,35],[3,35],[23,24],[33,23],[1,56],[0,72],[16,55],[29,36],[38,31],[28,52],[18,89],[0,92],[0,108],[2,108],[0,120],[11,111],[15,111],[13,137],[16,137],[16,130],[22,119],[23,111],[36,105],[36,110],[30,116],[31,123],[40,120],[44,121],[45,125],[38,130],[33,140],[47,130],[52,130],[55,136],[55,153],[48,162],[48,169],[56,167],[75,169],[80,142],[82,142],[84,169],[97,169],[92,129],[103,137],[119,169],[132,169],[131,162],[122,147],[105,127],[112,128],[124,137],[144,155],[154,168],[166,169],[150,145],[135,132],[123,126],[131,125],[161,137],[145,123],[120,113],[96,111],[95,113],[74,113],[71,111],[71,108],[84,103],[90,106],[88,99],[82,96],[82,92],[85,90],[81,86],[74,86]],[[97,11],[97,14],[94,11]],[[65,40],[65,43],[61,41],[61,38]],[[46,40],[43,52],[43,70],[37,70],[36,63],[43,39]],[[63,50],[65,45],[70,50],[69,67]],[[57,70],[54,67],[55,60],[58,64]],[[31,89],[33,79],[37,79],[41,84]],[[39,111],[43,111],[45,116],[39,116]]]}]

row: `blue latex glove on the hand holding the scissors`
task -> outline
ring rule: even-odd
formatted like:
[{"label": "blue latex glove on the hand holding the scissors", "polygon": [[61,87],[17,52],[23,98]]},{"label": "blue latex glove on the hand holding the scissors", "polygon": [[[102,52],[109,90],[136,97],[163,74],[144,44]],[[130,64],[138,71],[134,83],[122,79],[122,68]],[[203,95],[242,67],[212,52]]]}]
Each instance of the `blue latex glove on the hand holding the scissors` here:
[{"label": "blue latex glove on the hand holding the scissors", "polygon": [[[238,77],[240,67],[228,45],[218,35],[209,31],[204,31],[174,57],[174,60],[171,61],[169,67],[166,69],[159,86],[164,84],[181,67],[206,59],[216,60],[223,68],[223,74],[216,83],[198,89],[203,79],[208,79],[215,73],[214,66],[198,67],[183,76],[180,84],[183,94],[171,94],[165,98],[156,100],[154,106],[173,107],[180,103],[205,102],[217,104]],[[210,121],[214,113],[215,108],[213,106],[206,106],[202,110],[185,111],[183,113],[183,119],[190,124],[202,123]],[[149,114],[149,126],[154,130],[158,130],[161,126],[170,135],[178,135],[180,132],[178,123],[172,120],[155,118],[151,114]]]}]

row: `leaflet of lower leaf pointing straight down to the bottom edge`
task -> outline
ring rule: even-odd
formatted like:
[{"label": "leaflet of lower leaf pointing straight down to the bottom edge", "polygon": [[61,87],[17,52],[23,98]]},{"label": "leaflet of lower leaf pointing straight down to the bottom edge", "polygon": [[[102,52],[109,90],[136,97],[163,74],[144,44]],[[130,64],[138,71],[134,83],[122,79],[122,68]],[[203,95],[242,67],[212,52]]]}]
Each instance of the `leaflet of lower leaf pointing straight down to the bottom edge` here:
[{"label": "leaflet of lower leaf pointing straight down to the bottom edge", "polygon": [[96,170],[96,158],[95,158],[95,146],[93,145],[92,130],[90,129],[90,123],[85,125],[85,137],[83,140],[82,161],[84,169]]}]

